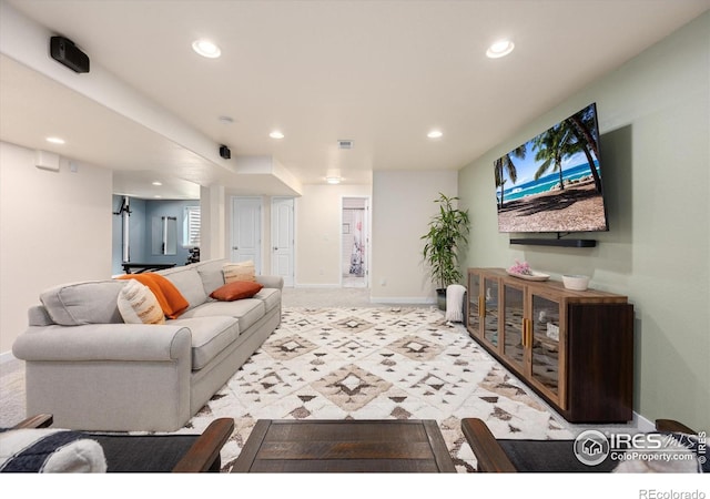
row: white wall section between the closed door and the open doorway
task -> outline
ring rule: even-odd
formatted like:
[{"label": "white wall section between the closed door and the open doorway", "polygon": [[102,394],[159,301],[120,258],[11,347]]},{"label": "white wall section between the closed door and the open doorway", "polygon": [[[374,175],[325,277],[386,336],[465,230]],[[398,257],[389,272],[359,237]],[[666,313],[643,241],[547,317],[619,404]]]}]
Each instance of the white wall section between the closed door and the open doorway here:
[{"label": "white wall section between the closed door and the open doorway", "polygon": [[304,185],[295,203],[295,285],[341,285],[343,197],[372,195],[369,185]]}]

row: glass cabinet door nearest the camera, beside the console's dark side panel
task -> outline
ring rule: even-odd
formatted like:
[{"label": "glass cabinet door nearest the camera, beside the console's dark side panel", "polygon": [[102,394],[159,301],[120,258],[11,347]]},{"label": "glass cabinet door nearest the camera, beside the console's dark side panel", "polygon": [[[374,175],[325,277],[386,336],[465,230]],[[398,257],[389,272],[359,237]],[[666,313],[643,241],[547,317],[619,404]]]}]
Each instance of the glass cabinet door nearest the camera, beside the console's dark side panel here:
[{"label": "glass cabinet door nearest the camera, beside the console's dark side panel", "polygon": [[559,400],[560,304],[538,295],[532,295],[531,298],[531,376],[550,396]]}]

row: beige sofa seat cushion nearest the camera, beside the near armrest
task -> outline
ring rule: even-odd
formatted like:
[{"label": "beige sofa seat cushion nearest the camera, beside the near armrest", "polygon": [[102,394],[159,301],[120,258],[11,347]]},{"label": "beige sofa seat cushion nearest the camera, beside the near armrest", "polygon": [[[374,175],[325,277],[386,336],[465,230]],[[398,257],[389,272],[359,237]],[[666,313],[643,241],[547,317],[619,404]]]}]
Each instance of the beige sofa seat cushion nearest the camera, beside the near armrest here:
[{"label": "beige sofa seat cushion nearest the camera, beside the near armrest", "polygon": [[168,324],[189,327],[192,333],[192,370],[202,369],[240,335],[234,317],[192,317],[169,320]]}]

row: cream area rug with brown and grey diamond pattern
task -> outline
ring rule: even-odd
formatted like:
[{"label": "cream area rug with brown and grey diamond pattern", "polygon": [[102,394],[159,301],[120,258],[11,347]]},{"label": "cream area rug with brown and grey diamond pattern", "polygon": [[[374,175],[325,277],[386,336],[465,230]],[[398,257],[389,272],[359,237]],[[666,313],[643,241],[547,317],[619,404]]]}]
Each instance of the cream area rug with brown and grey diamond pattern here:
[{"label": "cream area rug with brown and grey diamond pattern", "polygon": [[257,419],[436,419],[459,472],[476,464],[464,417],[481,418],[499,438],[572,437],[437,308],[284,309],[281,326],[183,430],[217,417],[236,424],[223,471]]}]

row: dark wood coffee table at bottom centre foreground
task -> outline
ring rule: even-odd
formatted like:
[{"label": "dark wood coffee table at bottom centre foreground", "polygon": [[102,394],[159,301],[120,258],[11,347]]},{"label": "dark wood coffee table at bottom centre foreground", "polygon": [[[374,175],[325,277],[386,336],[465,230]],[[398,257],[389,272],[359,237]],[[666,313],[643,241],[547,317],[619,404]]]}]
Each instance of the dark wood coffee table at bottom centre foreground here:
[{"label": "dark wood coffee table at bottom centre foreground", "polygon": [[456,472],[435,420],[260,419],[232,472]]}]

